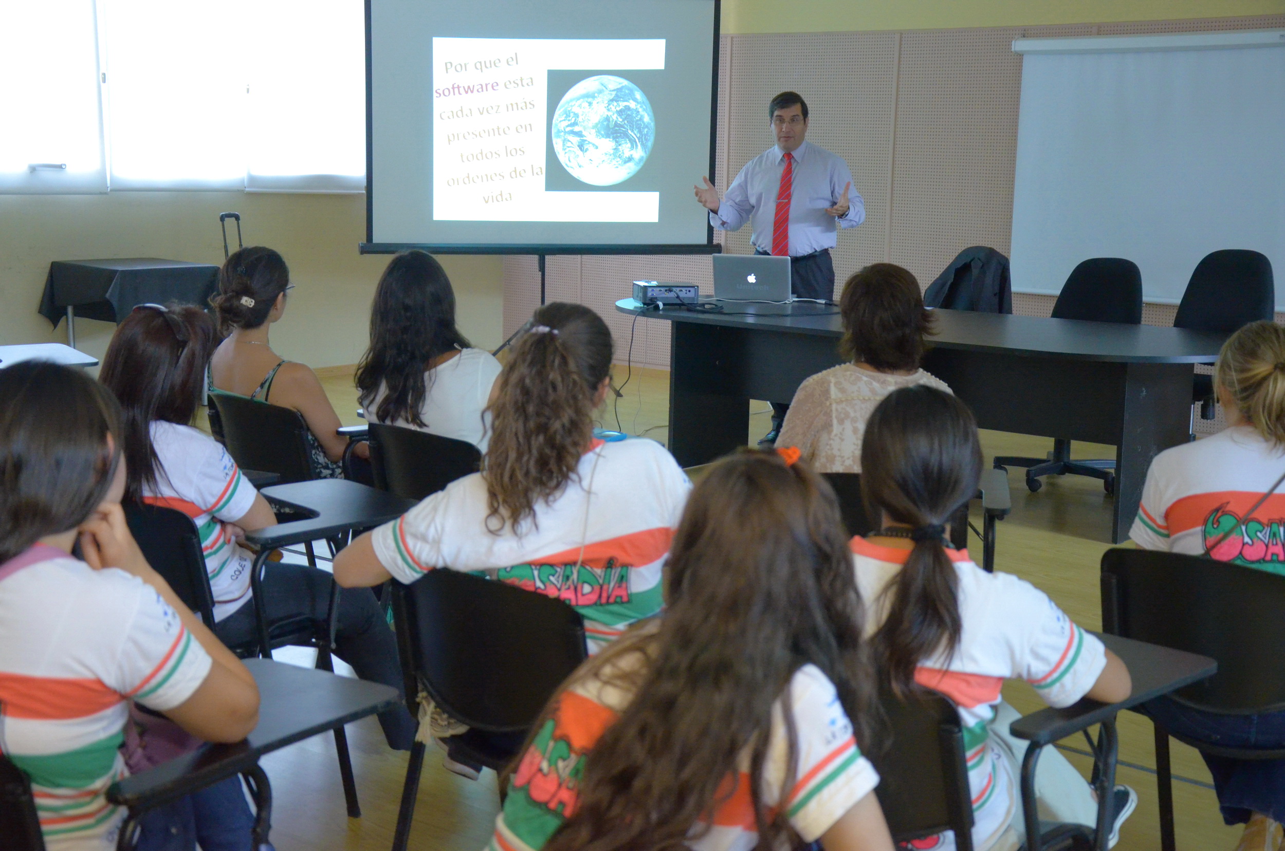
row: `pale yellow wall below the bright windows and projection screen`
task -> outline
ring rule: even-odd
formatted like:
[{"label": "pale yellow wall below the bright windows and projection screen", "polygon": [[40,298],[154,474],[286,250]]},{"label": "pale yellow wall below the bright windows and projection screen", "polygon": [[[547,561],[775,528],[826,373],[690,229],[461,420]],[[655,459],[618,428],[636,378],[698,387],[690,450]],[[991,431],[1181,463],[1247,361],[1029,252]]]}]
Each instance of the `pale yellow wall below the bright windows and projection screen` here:
[{"label": "pale yellow wall below the bright windows and projection screen", "polygon": [[[0,343],[67,342],[36,312],[53,260],[166,257],[221,264],[218,213],[242,215],[245,244],[276,248],[298,285],[271,332],[284,357],[311,366],[356,363],[366,347],[370,297],[388,262],[360,256],[365,195],[224,192],[113,192],[0,195]],[[229,222],[234,225],[235,222]],[[235,234],[231,235],[235,247]],[[439,257],[459,302],[461,330],[478,346],[502,339],[500,257]],[[113,325],[76,320],[77,347],[102,356]]]}]

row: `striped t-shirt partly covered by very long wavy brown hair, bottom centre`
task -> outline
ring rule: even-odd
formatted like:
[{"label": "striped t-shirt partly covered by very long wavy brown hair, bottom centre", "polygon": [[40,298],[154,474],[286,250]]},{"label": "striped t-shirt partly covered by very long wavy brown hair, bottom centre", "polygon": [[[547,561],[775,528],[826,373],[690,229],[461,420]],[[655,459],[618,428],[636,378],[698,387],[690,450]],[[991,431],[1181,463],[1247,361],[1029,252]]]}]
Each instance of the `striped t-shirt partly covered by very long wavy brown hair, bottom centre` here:
[{"label": "striped t-shirt partly covered by very long wavy brown hair, bottom centre", "polygon": [[[558,695],[553,717],[536,735],[509,782],[487,851],[537,851],[574,812],[585,757],[632,694],[581,680]],[[795,725],[794,785],[784,789],[788,747],[783,706],[789,699]],[[731,797],[714,809],[712,824],[687,846],[693,851],[752,851],[758,847],[750,797],[749,753],[741,756]],[[838,692],[815,665],[804,665],[772,712],[771,738],[761,789],[766,810],[784,800],[786,816],[804,842],[813,842],[879,785],[879,774],[861,755]],[[707,825],[698,825],[703,830]]]}]

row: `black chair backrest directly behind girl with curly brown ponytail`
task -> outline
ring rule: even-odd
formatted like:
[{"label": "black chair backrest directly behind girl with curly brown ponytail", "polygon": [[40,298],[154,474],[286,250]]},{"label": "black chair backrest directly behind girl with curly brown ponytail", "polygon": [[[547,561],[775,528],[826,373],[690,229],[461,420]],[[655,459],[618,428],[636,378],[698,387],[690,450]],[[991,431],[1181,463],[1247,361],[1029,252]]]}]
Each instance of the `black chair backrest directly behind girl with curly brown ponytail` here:
[{"label": "black chair backrest directly behind girl with curly brown ponytail", "polygon": [[393,582],[393,620],[407,703],[418,681],[447,715],[487,733],[528,729],[586,656],[585,625],[567,603],[447,568]]}]

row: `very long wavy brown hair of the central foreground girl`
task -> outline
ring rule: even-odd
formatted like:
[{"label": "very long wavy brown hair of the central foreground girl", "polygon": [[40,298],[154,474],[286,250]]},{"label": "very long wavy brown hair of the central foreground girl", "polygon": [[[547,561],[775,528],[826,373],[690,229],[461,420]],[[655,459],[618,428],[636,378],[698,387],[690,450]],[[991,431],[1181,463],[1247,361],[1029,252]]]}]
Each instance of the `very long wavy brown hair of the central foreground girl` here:
[{"label": "very long wavy brown hair of the central foreground girl", "polygon": [[[667,573],[664,617],[635,626],[573,675],[632,699],[589,751],[574,812],[546,851],[685,848],[698,821],[708,830],[711,812],[735,792],[727,780],[747,751],[758,847],[797,843],[785,807],[765,806],[761,783],[772,707],[804,665],[830,679],[866,738],[874,676],[861,596],[820,476],[771,451],[717,461],[691,492]],[[793,766],[795,722],[784,704]]]}]

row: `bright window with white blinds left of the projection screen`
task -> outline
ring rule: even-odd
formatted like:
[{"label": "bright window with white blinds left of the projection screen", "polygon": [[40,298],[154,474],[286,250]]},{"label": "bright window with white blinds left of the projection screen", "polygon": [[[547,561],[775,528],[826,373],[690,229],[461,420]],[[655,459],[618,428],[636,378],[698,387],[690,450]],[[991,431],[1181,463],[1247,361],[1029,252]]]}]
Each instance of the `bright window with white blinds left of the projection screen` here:
[{"label": "bright window with white blinds left of the projection screen", "polygon": [[0,71],[0,192],[365,186],[362,0],[4,3]]}]

